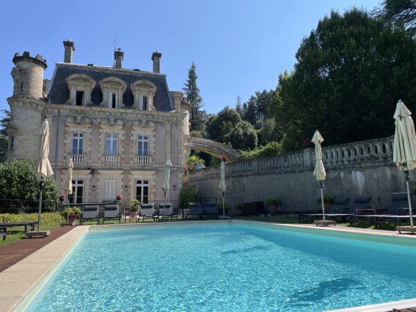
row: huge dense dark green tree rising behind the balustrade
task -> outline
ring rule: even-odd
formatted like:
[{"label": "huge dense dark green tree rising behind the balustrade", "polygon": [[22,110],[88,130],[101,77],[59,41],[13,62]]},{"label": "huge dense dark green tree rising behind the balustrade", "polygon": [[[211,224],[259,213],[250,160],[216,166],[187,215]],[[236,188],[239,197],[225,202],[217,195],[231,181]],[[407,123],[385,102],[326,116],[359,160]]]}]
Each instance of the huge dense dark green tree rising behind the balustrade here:
[{"label": "huge dense dark green tree rising behind the balustrade", "polygon": [[285,151],[318,129],[326,144],[387,137],[399,99],[416,110],[416,42],[404,28],[367,12],[331,12],[297,51],[291,75],[279,76],[269,111]]}]

